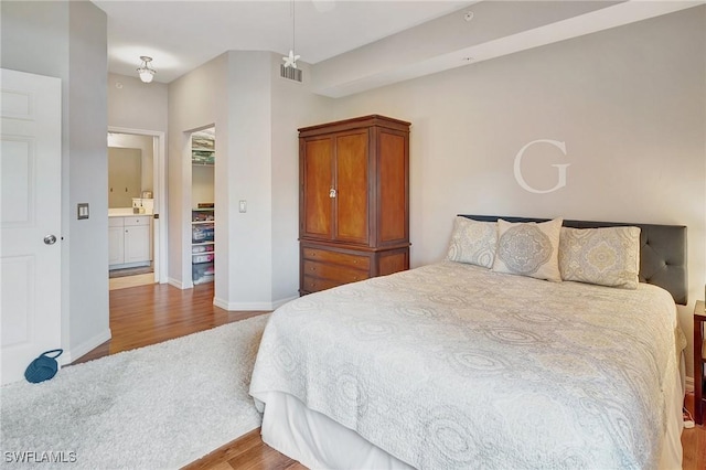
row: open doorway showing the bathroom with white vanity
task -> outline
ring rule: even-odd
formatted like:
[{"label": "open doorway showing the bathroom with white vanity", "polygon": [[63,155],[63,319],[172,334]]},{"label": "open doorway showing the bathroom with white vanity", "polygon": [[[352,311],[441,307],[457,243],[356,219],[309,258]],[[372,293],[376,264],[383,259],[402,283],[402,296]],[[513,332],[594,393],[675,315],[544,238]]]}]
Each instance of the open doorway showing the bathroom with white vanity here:
[{"label": "open doorway showing the bathroom with white vanity", "polygon": [[164,132],[108,129],[109,289],[165,282]]}]

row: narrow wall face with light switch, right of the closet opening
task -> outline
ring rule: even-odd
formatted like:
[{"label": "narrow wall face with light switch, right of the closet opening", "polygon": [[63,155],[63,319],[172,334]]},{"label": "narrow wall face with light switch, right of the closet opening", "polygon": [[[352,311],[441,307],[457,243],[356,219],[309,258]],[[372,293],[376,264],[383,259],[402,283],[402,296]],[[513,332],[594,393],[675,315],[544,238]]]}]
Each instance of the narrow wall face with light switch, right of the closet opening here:
[{"label": "narrow wall face with light switch, right of the closet opening", "polygon": [[[216,174],[216,191],[227,186],[228,199],[228,277],[226,285],[216,277],[216,301],[228,310],[268,310],[271,301],[270,56],[228,52],[227,182],[218,184]],[[247,201],[246,213],[238,212],[240,200]]]}]

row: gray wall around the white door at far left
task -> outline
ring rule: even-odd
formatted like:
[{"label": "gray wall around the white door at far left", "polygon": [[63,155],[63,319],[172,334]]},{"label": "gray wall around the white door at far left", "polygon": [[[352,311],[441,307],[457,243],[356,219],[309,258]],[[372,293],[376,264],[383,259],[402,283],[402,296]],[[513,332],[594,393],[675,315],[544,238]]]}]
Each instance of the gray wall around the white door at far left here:
[{"label": "gray wall around the white door at far left", "polygon": [[[62,360],[110,338],[107,20],[90,2],[3,1],[1,66],[62,79]],[[76,218],[87,202],[90,218]]]}]

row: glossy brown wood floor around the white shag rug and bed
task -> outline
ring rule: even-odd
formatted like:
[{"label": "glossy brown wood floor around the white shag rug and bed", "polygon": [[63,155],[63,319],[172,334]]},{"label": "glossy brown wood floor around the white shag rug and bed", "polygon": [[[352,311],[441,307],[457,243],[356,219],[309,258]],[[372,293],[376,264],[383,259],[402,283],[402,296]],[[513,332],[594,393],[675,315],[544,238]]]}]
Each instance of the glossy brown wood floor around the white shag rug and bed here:
[{"label": "glossy brown wood floor around the white shag rug and bed", "polygon": [[[110,330],[113,339],[74,364],[156,344],[172,338],[207,330],[221,324],[265,312],[228,312],[213,305],[213,284],[180,290],[152,284],[110,291]],[[694,396],[686,407],[693,413]],[[706,427],[684,429],[684,470],[706,470]],[[186,466],[188,470],[300,470],[303,466],[263,442],[259,428],[242,436],[204,458]]]}]

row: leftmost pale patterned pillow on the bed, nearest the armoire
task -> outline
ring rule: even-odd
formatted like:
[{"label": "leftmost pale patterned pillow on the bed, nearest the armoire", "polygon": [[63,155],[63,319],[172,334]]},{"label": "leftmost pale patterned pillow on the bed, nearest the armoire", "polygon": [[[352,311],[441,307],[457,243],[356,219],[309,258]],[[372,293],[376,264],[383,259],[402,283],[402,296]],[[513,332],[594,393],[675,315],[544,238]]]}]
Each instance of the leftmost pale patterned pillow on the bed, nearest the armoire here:
[{"label": "leftmost pale patterned pillow on the bed, nearest the armoire", "polygon": [[498,224],[457,216],[446,259],[485,268],[493,267]]}]

